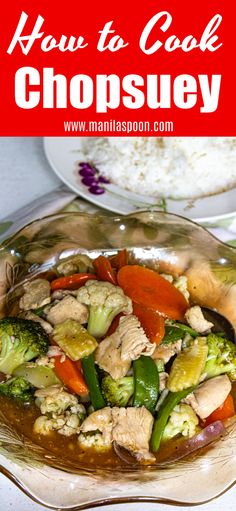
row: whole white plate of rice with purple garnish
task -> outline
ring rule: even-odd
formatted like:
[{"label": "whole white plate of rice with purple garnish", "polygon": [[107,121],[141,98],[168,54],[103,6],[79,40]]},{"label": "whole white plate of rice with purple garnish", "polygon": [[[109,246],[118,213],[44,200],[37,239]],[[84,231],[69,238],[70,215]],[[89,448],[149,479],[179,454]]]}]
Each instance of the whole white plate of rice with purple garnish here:
[{"label": "whole white plate of rice with purple garnish", "polygon": [[46,137],[44,148],[69,188],[115,213],[236,211],[236,137]]}]

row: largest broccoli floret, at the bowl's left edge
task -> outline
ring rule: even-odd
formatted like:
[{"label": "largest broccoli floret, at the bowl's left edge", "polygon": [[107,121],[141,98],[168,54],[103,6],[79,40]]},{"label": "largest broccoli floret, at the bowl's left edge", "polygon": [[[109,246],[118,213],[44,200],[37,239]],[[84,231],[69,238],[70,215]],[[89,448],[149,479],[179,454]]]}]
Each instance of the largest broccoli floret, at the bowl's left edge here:
[{"label": "largest broccoli floret, at the bowl's left edge", "polygon": [[24,362],[47,353],[49,340],[39,323],[22,318],[0,320],[0,371],[12,374]]}]

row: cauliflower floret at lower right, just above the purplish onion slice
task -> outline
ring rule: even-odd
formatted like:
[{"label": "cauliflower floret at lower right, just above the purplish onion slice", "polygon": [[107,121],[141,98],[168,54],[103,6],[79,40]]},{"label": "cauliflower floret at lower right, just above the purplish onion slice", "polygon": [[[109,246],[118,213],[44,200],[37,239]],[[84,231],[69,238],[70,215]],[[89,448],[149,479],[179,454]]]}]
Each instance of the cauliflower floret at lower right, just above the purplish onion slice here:
[{"label": "cauliflower floret at lower right, just above the purplish onion slice", "polygon": [[179,404],[170,414],[162,439],[170,440],[179,434],[191,438],[196,434],[197,426],[198,417],[191,406]]}]

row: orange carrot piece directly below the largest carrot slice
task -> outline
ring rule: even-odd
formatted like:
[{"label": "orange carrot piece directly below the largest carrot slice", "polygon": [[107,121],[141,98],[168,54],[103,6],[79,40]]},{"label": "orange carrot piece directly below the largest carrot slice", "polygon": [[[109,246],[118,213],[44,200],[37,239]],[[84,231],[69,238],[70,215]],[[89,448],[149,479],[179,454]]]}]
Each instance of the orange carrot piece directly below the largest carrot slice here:
[{"label": "orange carrot piece directly below the largest carrot slice", "polygon": [[133,314],[139,319],[146,336],[151,342],[160,344],[165,335],[165,320],[163,316],[153,309],[133,303]]}]

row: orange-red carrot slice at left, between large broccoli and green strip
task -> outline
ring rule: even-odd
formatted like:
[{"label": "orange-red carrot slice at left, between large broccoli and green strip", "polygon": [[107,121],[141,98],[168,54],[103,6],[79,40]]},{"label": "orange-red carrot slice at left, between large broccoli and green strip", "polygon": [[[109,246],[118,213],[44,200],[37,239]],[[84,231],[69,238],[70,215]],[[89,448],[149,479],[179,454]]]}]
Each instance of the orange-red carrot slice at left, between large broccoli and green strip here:
[{"label": "orange-red carrot slice at left, between large broccoli and green strip", "polygon": [[81,363],[73,362],[68,357],[63,360],[60,355],[55,357],[54,369],[58,378],[69,390],[79,396],[88,394],[88,387],[81,371]]}]

